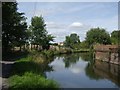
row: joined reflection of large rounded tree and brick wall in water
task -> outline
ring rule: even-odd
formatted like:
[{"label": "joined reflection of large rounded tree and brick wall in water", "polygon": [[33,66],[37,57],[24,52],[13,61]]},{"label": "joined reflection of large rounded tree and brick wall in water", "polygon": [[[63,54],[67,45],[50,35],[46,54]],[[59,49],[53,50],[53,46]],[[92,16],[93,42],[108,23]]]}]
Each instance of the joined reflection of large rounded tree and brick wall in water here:
[{"label": "joined reflection of large rounded tree and brick wall in water", "polygon": [[82,60],[89,61],[85,71],[90,79],[109,79],[120,86],[120,66],[93,59],[92,53],[81,53]]}]

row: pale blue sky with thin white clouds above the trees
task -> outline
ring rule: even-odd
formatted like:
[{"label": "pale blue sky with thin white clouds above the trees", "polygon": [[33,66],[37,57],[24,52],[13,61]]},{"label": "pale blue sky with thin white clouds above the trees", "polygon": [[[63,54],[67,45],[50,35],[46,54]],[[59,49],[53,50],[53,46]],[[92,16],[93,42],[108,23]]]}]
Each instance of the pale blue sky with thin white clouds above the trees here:
[{"label": "pale blue sky with thin white clouds above the trees", "polygon": [[105,28],[109,33],[118,29],[117,2],[18,2],[18,11],[25,13],[28,25],[33,16],[42,15],[55,42],[63,42],[71,33],[83,41],[90,28]]}]

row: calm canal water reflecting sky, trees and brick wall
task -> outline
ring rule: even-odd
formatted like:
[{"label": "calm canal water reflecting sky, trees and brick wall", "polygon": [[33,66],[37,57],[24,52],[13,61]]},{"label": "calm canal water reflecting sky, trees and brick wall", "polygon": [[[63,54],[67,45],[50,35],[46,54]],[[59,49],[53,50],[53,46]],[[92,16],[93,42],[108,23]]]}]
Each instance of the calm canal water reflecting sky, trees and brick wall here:
[{"label": "calm canal water reflecting sky, trees and brick wall", "polygon": [[120,66],[97,62],[90,53],[56,56],[46,72],[62,88],[119,88]]}]

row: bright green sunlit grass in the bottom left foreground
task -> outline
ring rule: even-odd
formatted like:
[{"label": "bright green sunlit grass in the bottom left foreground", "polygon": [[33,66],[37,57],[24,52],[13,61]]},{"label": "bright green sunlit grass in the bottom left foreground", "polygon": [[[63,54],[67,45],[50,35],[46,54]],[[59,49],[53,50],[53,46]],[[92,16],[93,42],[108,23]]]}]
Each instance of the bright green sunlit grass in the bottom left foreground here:
[{"label": "bright green sunlit grass in the bottom left foreground", "polygon": [[29,90],[35,88],[58,88],[58,84],[53,80],[45,79],[43,76],[26,72],[23,76],[14,75],[9,78],[10,90]]}]

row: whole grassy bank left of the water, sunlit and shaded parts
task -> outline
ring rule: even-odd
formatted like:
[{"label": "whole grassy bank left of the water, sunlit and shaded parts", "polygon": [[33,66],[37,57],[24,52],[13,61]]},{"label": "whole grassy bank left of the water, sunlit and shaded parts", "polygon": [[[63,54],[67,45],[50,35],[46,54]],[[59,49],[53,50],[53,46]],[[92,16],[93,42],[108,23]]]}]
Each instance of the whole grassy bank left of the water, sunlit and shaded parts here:
[{"label": "whole grassy bank left of the water, sunlit and shaded parts", "polygon": [[45,78],[45,72],[52,71],[48,65],[52,59],[38,52],[30,52],[25,58],[15,62],[9,78],[9,89],[28,90],[34,88],[54,88],[59,85]]}]

